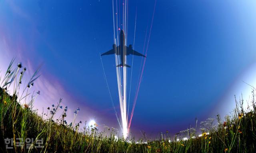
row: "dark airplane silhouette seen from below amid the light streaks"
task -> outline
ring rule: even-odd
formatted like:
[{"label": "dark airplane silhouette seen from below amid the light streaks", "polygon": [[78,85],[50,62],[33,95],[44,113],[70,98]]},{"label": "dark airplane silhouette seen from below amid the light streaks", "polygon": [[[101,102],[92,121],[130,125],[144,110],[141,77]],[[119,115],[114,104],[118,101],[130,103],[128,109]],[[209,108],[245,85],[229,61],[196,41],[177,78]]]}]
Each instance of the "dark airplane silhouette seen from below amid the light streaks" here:
[{"label": "dark airplane silhouette seen from below amid the light streaks", "polygon": [[109,50],[108,52],[101,54],[101,56],[111,55],[111,54],[120,55],[121,56],[121,64],[119,64],[116,67],[126,66],[128,68],[130,68],[130,66],[128,66],[126,64],[124,55],[128,56],[128,55],[132,54],[132,55],[142,56],[142,57],[146,58],[145,55],[140,54],[139,52],[136,52],[135,50],[133,50],[132,45],[129,45],[129,47],[127,47],[127,46],[125,46],[124,43],[125,43],[125,35],[124,35],[124,31],[121,30],[121,32],[120,32],[120,45],[118,47],[116,47],[116,44],[113,44],[112,50]]}]

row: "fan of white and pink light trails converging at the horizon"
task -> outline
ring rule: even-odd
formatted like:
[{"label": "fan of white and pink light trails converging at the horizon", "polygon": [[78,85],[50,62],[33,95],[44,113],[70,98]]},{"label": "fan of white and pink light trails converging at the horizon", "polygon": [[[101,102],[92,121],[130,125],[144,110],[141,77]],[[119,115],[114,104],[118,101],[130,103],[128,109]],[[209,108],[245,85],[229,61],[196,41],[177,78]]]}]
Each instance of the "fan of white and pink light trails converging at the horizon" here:
[{"label": "fan of white and pink light trails converging at the horizon", "polygon": [[[116,66],[120,65],[120,64],[124,64],[126,65],[127,63],[127,56],[126,56],[126,46],[127,46],[127,38],[128,38],[128,0],[122,0],[122,19],[120,19],[120,14],[118,14],[118,11],[120,12],[121,7],[120,7],[120,0],[118,2],[118,0],[116,0],[116,2],[114,3],[114,0],[112,0],[112,14],[113,14],[113,30],[114,30],[114,45],[113,45],[113,49],[115,50],[115,63]],[[118,9],[118,4],[119,4],[119,9]],[[116,8],[115,8],[116,7]],[[156,7],[156,1],[154,4],[154,12],[155,12],[155,7]],[[116,11],[116,12],[115,12]],[[152,23],[153,23],[153,19],[154,19],[154,12],[153,12],[153,17],[152,17],[152,22],[151,22],[151,26],[150,26],[150,32],[149,32],[149,36],[148,36],[148,42],[146,45],[146,39],[147,39],[147,34],[148,34],[148,27],[146,30],[146,36],[145,36],[145,41],[144,41],[144,47],[143,47],[143,53],[145,51],[145,46],[146,46],[146,54],[147,55],[147,50],[148,50],[148,44],[149,44],[149,39],[150,39],[150,34],[151,34],[151,30],[152,30]],[[119,17],[119,20],[118,20]],[[122,20],[122,25],[120,25],[120,20]],[[133,40],[133,50],[134,50],[134,44],[135,44],[135,35],[136,35],[136,20],[137,20],[137,4],[136,4],[136,15],[135,15],[135,27],[134,27],[134,40]],[[119,24],[118,24],[119,23]],[[119,44],[119,33],[120,33],[120,27],[122,26],[122,30],[124,30],[124,38],[122,38],[121,40],[123,40],[121,42],[121,44]],[[122,48],[121,48],[122,47]],[[120,52],[123,52],[122,55],[120,56]],[[121,59],[123,58],[123,59]],[[134,59],[134,55],[132,56],[132,70],[133,70],[133,60]],[[124,61],[124,63],[121,62]],[[131,86],[132,86],[132,70],[131,70],[131,77],[130,77],[130,91],[129,91],[129,100],[128,100],[128,108],[127,108],[127,67],[123,66],[121,67],[116,67],[116,78],[117,78],[117,84],[118,84],[118,96],[119,96],[119,104],[120,104],[120,113],[121,113],[121,119],[122,119],[122,124],[120,123],[118,116],[117,116],[117,112],[116,113],[116,117],[118,119],[118,123],[122,129],[122,133],[123,133],[123,137],[124,139],[126,139],[126,136],[128,135],[129,132],[129,128],[130,128],[130,124],[132,121],[132,117],[134,114],[134,108],[136,105],[136,101],[138,98],[138,93],[139,93],[139,89],[140,89],[140,83],[142,81],[142,76],[143,76],[143,72],[144,72],[144,67],[145,67],[145,62],[146,59],[144,59],[143,64],[141,61],[140,64],[140,75],[138,78],[138,83],[137,83],[137,87],[136,87],[136,94],[134,97],[134,103],[133,103],[133,107],[132,107],[132,111],[131,111],[131,115],[130,115],[130,120],[129,120],[129,124],[128,124],[128,117],[129,117],[129,107],[130,107],[130,93],[131,93]],[[102,68],[104,70],[103,64],[102,64]],[[106,75],[104,74],[105,79],[106,79]],[[107,82],[107,79],[106,79]],[[108,83],[107,83],[107,87],[108,87]],[[108,87],[109,93],[110,93],[110,89]],[[111,94],[110,94],[111,97]],[[111,97],[112,99],[112,97]],[[112,101],[112,105],[114,107],[114,103]]]}]

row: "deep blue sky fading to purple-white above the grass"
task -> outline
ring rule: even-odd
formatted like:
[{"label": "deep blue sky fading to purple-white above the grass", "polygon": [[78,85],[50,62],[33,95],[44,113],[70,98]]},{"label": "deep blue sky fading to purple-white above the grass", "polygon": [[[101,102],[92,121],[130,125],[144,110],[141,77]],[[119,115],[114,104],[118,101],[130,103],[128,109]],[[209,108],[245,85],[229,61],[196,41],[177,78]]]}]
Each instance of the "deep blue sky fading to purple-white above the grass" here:
[{"label": "deep blue sky fading to purple-white above the grass", "polygon": [[[134,50],[140,53],[154,4],[128,1],[127,44],[134,41],[137,8]],[[234,108],[235,94],[249,98],[250,87],[243,81],[256,86],[255,8],[254,0],[156,1],[131,125],[134,136],[141,137],[140,130],[148,137],[177,133],[194,127],[196,117],[224,117]],[[63,97],[70,121],[80,107],[77,121],[95,119],[119,128],[100,60],[114,43],[112,15],[111,0],[0,0],[0,69],[6,71],[13,57],[30,76],[43,65],[33,87],[41,91],[35,102],[39,113]],[[131,105],[141,61],[134,56]],[[102,63],[118,108],[114,55],[102,57]],[[130,73],[128,68],[129,80]]]}]

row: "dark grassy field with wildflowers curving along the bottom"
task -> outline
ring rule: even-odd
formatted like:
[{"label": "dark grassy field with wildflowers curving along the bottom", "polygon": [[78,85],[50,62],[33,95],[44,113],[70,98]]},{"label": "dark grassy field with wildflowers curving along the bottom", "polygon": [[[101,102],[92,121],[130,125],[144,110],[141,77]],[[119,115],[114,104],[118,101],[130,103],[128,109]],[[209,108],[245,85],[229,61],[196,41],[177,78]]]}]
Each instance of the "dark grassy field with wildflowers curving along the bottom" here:
[{"label": "dark grassy field with wildflowers curving along the bottom", "polygon": [[[66,123],[66,109],[62,107],[62,99],[48,107],[46,113],[38,115],[33,109],[37,93],[30,93],[34,81],[39,77],[38,70],[30,81],[21,89],[22,78],[26,68],[11,61],[4,78],[0,79],[0,152],[92,152],[92,153],[252,153],[256,151],[256,102],[255,89],[252,88],[252,109],[245,111],[244,101],[235,100],[236,108],[233,115],[227,115],[222,121],[219,115],[216,119],[201,122],[200,133],[196,128],[180,131],[170,139],[168,131],[162,133],[160,140],[141,139],[138,142],[116,139],[115,131],[108,127],[100,132],[97,127],[88,127],[84,123]],[[12,88],[12,92],[8,89]],[[11,93],[10,93],[11,92]],[[60,117],[56,115],[58,111]],[[214,126],[214,121],[217,125]],[[197,122],[197,121],[196,121]],[[197,124],[196,124],[197,126]],[[81,130],[82,129],[82,130]],[[106,134],[106,133],[110,134]],[[200,134],[200,136],[198,136]],[[188,139],[184,139],[187,137]],[[13,138],[13,149],[6,149],[5,139]],[[18,146],[21,140],[16,138],[43,139],[42,148],[28,147],[28,143]],[[180,139],[180,140],[179,140]],[[184,140],[183,140],[184,139]],[[9,145],[10,147],[10,145]],[[28,148],[27,148],[28,147]]]}]

